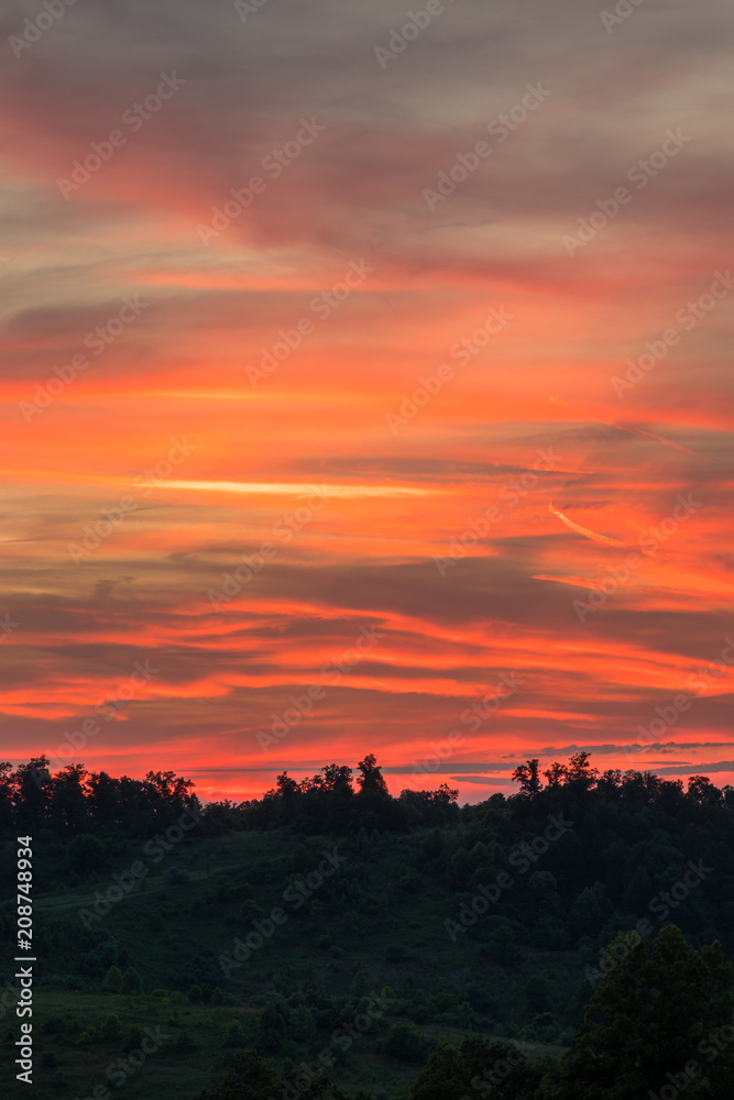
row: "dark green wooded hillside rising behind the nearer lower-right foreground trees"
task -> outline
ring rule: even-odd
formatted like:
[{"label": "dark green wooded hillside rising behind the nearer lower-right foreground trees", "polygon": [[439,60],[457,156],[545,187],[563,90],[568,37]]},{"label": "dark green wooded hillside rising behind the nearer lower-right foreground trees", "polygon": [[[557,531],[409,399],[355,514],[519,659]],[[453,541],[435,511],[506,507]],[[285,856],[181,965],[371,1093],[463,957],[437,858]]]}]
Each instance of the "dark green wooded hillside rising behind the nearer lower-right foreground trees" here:
[{"label": "dark green wooded hillside rising behind the nearer lower-right foreground trees", "polygon": [[[376,763],[366,791],[343,771],[330,789],[282,777],[241,806],[201,806],[190,785],[149,778],[158,802],[150,817],[138,805],[134,828],[95,827],[87,780],[86,816],[59,818],[50,778],[41,820],[25,824],[35,1094],[193,1100],[222,1079],[228,1053],[252,1049],[285,1072],[326,1050],[347,1096],[407,1096],[441,1035],[452,1049],[485,1036],[540,1067],[557,1058],[614,974],[620,934],[615,957],[651,948],[672,922],[691,948],[717,939],[731,957],[734,792],[599,777],[585,758],[543,789],[532,765],[517,795],[461,809],[448,789],[391,799]],[[28,813],[24,776],[9,781],[9,814]],[[319,817],[331,827],[314,832]],[[14,848],[3,842],[7,938]],[[135,1069],[125,1059],[143,1038],[155,1048]]]}]

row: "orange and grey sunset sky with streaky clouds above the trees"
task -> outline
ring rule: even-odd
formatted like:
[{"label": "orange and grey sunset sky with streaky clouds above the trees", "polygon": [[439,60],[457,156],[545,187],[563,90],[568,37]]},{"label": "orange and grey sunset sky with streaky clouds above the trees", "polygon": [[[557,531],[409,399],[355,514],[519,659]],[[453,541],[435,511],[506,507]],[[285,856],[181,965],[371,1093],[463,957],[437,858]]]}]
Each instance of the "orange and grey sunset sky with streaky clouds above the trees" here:
[{"label": "orange and grey sunset sky with streaky clouds above the trees", "polygon": [[733,782],[727,0],[0,30],[0,759]]}]

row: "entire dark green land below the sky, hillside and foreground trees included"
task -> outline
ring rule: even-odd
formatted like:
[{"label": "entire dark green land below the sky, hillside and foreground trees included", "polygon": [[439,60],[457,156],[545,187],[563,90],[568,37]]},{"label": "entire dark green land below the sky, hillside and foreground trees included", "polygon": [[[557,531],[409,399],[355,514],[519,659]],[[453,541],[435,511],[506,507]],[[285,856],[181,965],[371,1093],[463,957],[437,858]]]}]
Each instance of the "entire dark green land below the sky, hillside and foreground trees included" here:
[{"label": "entire dark green land below the sky, hillside and foreground trees included", "polygon": [[514,778],[392,798],[368,756],[202,805],[173,772],[0,765],[2,1096],[730,1100],[734,790],[583,752]]}]

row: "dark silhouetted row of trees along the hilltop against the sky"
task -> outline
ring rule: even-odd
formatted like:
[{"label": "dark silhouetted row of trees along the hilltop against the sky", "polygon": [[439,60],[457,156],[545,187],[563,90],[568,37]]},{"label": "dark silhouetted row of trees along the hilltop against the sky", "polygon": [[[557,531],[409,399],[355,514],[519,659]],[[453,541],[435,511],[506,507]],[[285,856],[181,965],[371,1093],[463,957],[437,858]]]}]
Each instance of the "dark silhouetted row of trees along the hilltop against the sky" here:
[{"label": "dark silhouetted row of trees along the hilltop against the sky", "polygon": [[52,774],[45,756],[14,769],[0,762],[0,832],[147,836],[175,822],[184,810],[196,811],[201,834],[211,835],[282,827],[307,834],[354,833],[360,828],[405,832],[475,821],[500,810],[532,823],[561,805],[592,816],[594,807],[599,812],[610,806],[637,812],[647,806],[699,821],[701,814],[734,807],[734,788],[719,789],[705,776],[691,776],[683,790],[680,779],[661,779],[649,771],[609,769],[600,773],[588,752],[573,755],[567,763],[554,762],[544,772],[537,759],[527,760],[512,776],[518,784],[516,794],[495,793],[462,807],[458,790],[447,783],[434,791],[406,789],[391,795],[374,754],[360,760],[354,780],[352,768],[330,763],[300,782],[284,771],[261,799],[202,804],[194,782],[173,771],[149,771],[139,780],[90,772],[81,763],[69,763]]}]

